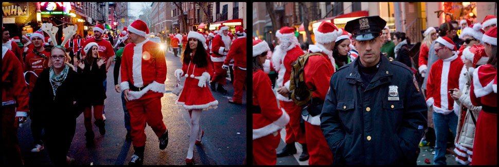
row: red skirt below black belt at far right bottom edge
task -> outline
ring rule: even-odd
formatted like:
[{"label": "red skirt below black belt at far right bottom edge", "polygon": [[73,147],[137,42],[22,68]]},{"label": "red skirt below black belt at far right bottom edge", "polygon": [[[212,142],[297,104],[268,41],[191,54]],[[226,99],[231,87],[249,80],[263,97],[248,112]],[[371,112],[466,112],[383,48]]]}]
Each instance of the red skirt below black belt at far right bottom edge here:
[{"label": "red skirt below black belt at far right bottom edge", "polygon": [[497,114],[480,111],[473,140],[472,165],[497,165]]}]

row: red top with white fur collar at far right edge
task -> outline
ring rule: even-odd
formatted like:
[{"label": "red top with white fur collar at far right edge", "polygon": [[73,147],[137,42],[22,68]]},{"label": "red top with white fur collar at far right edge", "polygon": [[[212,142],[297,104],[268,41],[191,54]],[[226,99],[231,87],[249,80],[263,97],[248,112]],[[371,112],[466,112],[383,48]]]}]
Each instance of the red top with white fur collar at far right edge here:
[{"label": "red top with white fur collar at far right edge", "polygon": [[476,68],[470,90],[470,100],[474,106],[497,107],[497,69],[490,64]]}]

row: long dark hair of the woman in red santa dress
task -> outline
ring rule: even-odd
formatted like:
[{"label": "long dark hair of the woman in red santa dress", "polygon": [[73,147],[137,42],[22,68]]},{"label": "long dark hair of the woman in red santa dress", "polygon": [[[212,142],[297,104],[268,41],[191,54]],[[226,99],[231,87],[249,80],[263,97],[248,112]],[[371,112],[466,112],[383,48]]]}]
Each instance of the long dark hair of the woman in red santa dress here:
[{"label": "long dark hair of the woman in red santa dress", "polygon": [[[189,64],[191,61],[190,53],[192,52],[192,49],[189,47],[189,45],[185,46],[184,54],[182,54],[182,64]],[[198,40],[198,46],[196,47],[196,52],[194,53],[194,56],[192,58],[192,63],[194,63],[198,68],[203,68],[208,66],[208,59],[209,55],[206,53],[206,50],[204,50],[203,43]]]}]

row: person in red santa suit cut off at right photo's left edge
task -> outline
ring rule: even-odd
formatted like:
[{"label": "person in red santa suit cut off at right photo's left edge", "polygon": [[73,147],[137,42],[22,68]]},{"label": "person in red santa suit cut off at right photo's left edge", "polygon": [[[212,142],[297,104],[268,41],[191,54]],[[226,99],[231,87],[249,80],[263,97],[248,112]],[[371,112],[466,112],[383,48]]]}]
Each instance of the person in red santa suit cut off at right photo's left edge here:
[{"label": "person in red santa suit cut off at right photo's left edge", "polygon": [[289,115],[277,107],[269,76],[263,72],[263,63],[269,45],[253,41],[253,165],[275,165],[280,129],[289,123]]}]

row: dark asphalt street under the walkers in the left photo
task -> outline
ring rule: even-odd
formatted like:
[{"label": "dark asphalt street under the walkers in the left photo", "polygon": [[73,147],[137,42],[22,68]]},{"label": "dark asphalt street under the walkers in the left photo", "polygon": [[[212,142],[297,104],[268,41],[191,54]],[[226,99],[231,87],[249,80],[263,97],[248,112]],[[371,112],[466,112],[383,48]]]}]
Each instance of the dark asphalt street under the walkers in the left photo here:
[{"label": "dark asphalt street under the walkers in the left photo", "polygon": [[[171,93],[175,86],[173,71],[181,68],[180,57],[166,52],[167,80],[166,91],[161,98],[163,122],[168,128],[169,142],[165,150],[159,150],[159,140],[152,128],[146,127],[146,150],[144,165],[185,165],[189,145],[190,118],[182,106],[176,105],[178,97]],[[77,118],[76,133],[69,149],[68,156],[75,158],[77,165],[126,165],[133,155],[132,142],[126,141],[124,114],[121,104],[121,93],[114,89],[114,63],[108,71],[107,99],[105,101],[106,133],[101,136],[98,127],[93,125],[95,147],[85,147],[85,127],[83,114]],[[227,78],[227,80],[230,80]],[[184,78],[181,83],[183,84]],[[196,165],[241,165],[246,157],[246,91],[243,94],[243,105],[228,103],[234,95],[234,88],[229,81],[224,86],[226,94],[211,91],[219,101],[217,109],[204,110],[201,116],[201,128],[205,132],[202,145],[194,148],[194,164]],[[92,122],[94,119],[92,120]],[[31,120],[18,129],[21,152],[26,165],[51,164],[46,150],[31,153],[33,138],[30,128]]]}]

